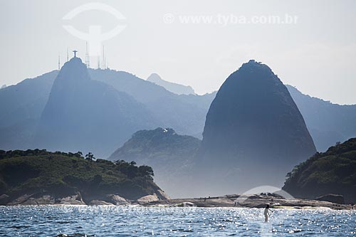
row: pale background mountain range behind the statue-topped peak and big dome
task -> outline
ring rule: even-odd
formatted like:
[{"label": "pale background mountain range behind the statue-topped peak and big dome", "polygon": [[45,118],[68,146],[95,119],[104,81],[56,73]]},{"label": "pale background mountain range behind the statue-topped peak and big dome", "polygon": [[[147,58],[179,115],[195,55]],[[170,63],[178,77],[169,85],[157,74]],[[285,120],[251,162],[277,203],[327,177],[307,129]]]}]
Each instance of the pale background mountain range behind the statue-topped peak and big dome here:
[{"label": "pale background mountain range behind the statue-topped peak and big dome", "polygon": [[[33,144],[36,129],[58,73],[58,70],[53,70],[0,89],[1,149],[37,148]],[[115,90],[130,95],[144,105],[153,116],[152,124],[155,126],[172,127],[179,134],[202,138],[205,116],[216,92],[206,95],[177,95],[123,71],[89,68],[88,73],[92,80],[111,85]],[[304,95],[290,85],[286,87],[303,115],[318,151],[323,152],[335,142],[343,142],[356,136],[356,105],[333,104]],[[155,127],[150,127],[153,128]],[[100,157],[108,157],[130,136],[120,134],[120,139],[108,151],[93,152],[97,152]],[[98,144],[101,145],[99,140]]]}]

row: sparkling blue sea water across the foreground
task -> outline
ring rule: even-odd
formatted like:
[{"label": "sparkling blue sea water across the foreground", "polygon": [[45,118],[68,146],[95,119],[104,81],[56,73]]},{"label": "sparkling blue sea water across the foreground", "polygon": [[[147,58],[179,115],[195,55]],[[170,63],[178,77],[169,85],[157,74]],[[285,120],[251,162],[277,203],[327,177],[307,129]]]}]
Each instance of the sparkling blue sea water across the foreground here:
[{"label": "sparkling blue sea water across the foreground", "polygon": [[0,236],[356,236],[356,211],[1,206]]}]

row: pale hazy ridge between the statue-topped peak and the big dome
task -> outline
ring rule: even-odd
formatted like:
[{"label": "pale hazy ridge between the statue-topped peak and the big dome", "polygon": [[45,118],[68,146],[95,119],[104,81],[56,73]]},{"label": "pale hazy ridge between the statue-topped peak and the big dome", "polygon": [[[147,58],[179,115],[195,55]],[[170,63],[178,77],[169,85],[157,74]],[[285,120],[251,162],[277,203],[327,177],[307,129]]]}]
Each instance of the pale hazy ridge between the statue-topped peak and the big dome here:
[{"label": "pale hazy ridge between the statue-topped peak and the big dome", "polygon": [[115,70],[90,69],[89,74],[93,80],[111,85],[145,105],[159,120],[159,127],[172,127],[180,134],[201,137],[206,110],[215,93],[177,95],[155,83]]}]

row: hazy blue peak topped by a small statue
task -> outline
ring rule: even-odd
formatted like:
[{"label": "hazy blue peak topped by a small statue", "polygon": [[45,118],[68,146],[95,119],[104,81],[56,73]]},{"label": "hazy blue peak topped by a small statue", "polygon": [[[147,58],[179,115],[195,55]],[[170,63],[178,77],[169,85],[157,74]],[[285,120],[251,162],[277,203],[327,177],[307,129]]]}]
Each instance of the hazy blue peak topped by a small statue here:
[{"label": "hazy blue peak topped by a small statue", "polygon": [[72,58],[54,80],[33,147],[91,149],[105,155],[133,132],[158,125],[144,105],[108,84],[91,80],[80,58]]}]

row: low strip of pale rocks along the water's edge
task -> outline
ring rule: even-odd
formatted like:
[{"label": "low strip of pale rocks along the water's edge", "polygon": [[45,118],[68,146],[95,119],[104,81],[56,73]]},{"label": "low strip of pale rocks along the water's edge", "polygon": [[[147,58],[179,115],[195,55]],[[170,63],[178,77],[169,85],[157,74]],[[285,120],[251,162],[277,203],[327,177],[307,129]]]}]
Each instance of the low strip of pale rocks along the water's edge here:
[{"label": "low strip of pale rocks along the water's edge", "polygon": [[[164,194],[164,193],[163,193]],[[4,197],[0,196],[4,199]],[[276,195],[252,195],[244,196],[239,194],[206,197],[206,198],[187,198],[187,199],[162,199],[162,196],[157,194],[142,196],[137,200],[124,199],[121,196],[108,194],[100,199],[91,199],[83,201],[80,194],[68,196],[62,199],[54,199],[51,195],[31,196],[23,195],[18,199],[1,206],[31,206],[31,205],[83,205],[83,206],[160,206],[160,207],[181,207],[181,206],[197,206],[197,207],[236,207],[236,208],[264,208],[266,204],[270,204],[275,209],[320,209],[329,208],[337,210],[351,210],[355,206],[350,204],[336,204],[330,201],[318,201],[308,199],[285,199]]]}]

